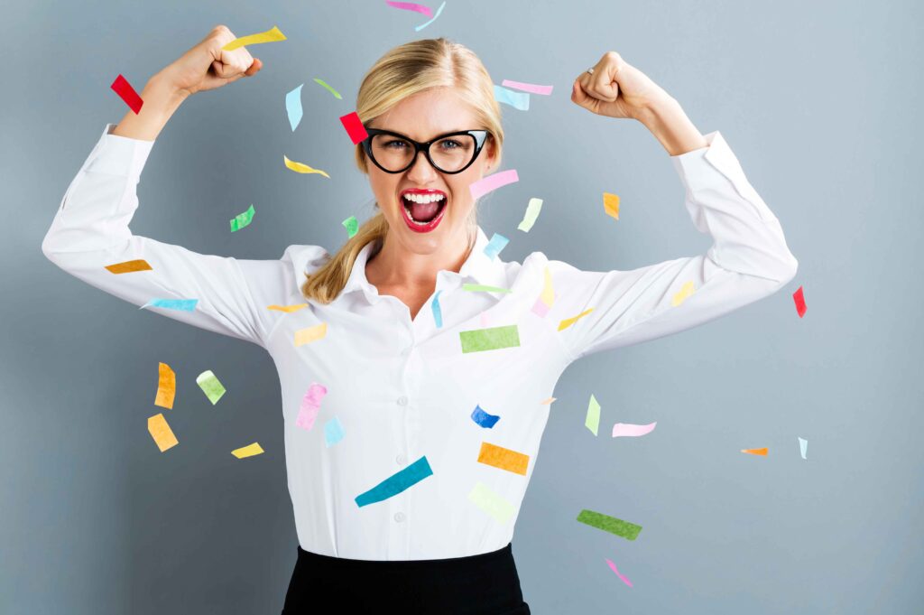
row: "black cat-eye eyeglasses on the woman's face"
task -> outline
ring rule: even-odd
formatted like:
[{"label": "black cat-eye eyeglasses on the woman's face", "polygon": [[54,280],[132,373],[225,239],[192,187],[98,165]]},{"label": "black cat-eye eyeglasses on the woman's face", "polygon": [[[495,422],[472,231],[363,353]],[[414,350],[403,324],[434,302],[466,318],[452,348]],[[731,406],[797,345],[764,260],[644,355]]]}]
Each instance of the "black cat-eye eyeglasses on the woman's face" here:
[{"label": "black cat-eye eyeglasses on the woman's face", "polygon": [[[371,161],[385,173],[403,173],[423,152],[437,171],[454,175],[471,166],[487,141],[487,130],[460,130],[421,143],[391,130],[366,129],[369,137],[362,147]],[[433,149],[433,146],[436,146]]]}]

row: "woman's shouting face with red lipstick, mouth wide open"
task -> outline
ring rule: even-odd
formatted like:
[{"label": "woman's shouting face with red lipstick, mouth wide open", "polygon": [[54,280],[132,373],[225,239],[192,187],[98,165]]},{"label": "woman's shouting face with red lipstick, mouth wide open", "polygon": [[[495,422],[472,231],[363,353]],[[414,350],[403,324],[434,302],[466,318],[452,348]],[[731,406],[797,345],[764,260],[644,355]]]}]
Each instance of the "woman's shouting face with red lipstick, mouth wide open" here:
[{"label": "woman's shouting face with red lipstick, mouth wide open", "polygon": [[[451,88],[434,88],[407,97],[390,111],[371,121],[369,128],[392,130],[415,141],[431,141],[434,137],[458,130],[484,129],[475,114]],[[381,139],[382,137],[380,137]],[[452,143],[445,144],[446,147]],[[401,147],[401,143],[394,145]],[[440,143],[434,143],[431,154],[437,155]],[[409,252],[430,254],[442,249],[468,245],[468,216],[475,200],[468,185],[491,172],[494,162],[493,140],[484,143],[478,158],[461,173],[437,171],[420,152],[414,164],[402,173],[386,173],[371,160],[366,160],[369,181],[379,208],[389,225],[390,240],[397,240]],[[442,201],[431,205],[415,205],[406,198],[408,191],[418,191],[411,199],[428,200],[442,195]],[[424,197],[425,194],[433,196]],[[437,214],[426,225],[411,219],[416,211],[418,222],[427,219],[432,210]],[[409,210],[409,211],[408,211]]]}]

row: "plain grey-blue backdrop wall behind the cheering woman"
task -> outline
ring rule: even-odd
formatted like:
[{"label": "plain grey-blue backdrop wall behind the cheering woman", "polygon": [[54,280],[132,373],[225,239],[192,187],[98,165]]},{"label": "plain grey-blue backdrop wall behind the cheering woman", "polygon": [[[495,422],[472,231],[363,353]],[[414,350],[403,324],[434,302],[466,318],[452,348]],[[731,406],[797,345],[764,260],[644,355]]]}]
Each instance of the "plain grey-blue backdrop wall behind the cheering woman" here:
[{"label": "plain grey-blue backdrop wall behind the cheering woman", "polygon": [[[425,18],[378,0],[4,5],[0,612],[282,608],[297,543],[270,357],[107,296],[40,249],[103,125],[127,110],[109,89],[116,75],[140,91],[218,23],[238,36],[278,25],[288,40],[252,48],[257,77],[176,113],[141,178],[136,234],[240,258],[293,243],[333,251],[341,220],[371,215],[337,117],[384,51],[439,35],[474,49],[496,83],[555,87],[528,112],[504,107],[504,168],[520,181],[485,203],[481,224],[511,238],[505,260],[538,250],[628,269],[709,247],[660,143],[570,102],[572,80],[609,50],[701,132],[721,130],[780,218],[799,261],[780,292],[562,376],[514,540],[533,612],[920,609],[919,5],[449,0],[420,32]],[[306,117],[293,133],[284,99],[299,83]],[[332,179],[292,173],[283,154]],[[618,222],[602,191],[622,197]],[[517,231],[534,196],[539,221]],[[254,227],[230,234],[249,203]],[[169,412],[183,446],[168,454],[145,427],[159,361],[178,375]],[[233,390],[220,406],[196,387],[205,369]],[[590,393],[604,426],[657,429],[590,436]],[[228,454],[253,440],[265,454]],[[738,452],[749,447],[770,455]],[[644,530],[607,535],[577,523],[582,508]]]}]

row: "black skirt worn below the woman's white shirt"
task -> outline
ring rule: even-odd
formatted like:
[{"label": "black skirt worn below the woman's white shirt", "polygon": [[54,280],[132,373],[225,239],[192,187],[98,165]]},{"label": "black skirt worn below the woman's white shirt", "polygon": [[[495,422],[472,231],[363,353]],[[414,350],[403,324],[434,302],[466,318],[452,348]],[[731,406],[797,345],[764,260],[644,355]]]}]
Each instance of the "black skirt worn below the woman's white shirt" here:
[{"label": "black skirt worn below the woman's white shirt", "polygon": [[[529,615],[511,545],[449,560],[346,560],[298,547],[283,615],[404,609],[426,615]],[[330,612],[327,609],[326,612]]]}]

